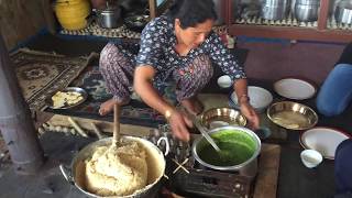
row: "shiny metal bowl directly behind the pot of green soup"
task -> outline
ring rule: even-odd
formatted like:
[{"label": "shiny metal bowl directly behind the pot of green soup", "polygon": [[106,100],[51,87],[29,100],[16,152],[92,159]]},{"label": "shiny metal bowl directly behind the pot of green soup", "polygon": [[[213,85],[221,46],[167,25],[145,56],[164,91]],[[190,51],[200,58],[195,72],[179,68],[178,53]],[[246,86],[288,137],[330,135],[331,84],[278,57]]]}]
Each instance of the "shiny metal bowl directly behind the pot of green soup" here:
[{"label": "shiny metal bowl directly behind the pot of green soup", "polygon": [[240,111],[230,108],[215,108],[204,112],[200,123],[207,129],[216,129],[224,125],[245,127],[246,119]]}]

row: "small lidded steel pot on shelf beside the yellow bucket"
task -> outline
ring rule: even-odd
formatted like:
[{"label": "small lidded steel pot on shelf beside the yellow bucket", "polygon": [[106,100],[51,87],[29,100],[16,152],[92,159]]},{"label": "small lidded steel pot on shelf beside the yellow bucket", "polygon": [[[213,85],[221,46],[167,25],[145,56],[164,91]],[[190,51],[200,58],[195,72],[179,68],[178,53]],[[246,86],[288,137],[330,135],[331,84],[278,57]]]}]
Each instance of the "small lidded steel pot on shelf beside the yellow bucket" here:
[{"label": "small lidded steel pot on shelf beside the yellow bucket", "polygon": [[119,26],[119,19],[121,16],[121,8],[117,4],[107,2],[105,9],[95,10],[98,16],[98,24],[103,29],[114,29]]}]

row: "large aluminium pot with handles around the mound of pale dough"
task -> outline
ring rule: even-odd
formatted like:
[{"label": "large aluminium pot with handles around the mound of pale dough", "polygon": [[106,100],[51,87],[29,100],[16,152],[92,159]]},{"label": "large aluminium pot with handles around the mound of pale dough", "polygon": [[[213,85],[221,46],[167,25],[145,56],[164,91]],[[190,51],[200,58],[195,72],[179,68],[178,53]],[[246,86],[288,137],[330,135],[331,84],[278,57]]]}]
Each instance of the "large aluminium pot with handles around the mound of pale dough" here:
[{"label": "large aluminium pot with handles around the mound of pale dough", "polygon": [[[163,140],[163,139],[162,139]],[[84,173],[82,169],[85,168],[85,161],[92,156],[92,153],[99,146],[110,145],[112,139],[101,139],[97,142],[92,142],[80,150],[72,161],[70,167],[65,167],[64,165],[59,165],[59,168],[66,178],[72,185],[75,185],[80,191],[82,191],[88,197],[101,197],[95,194],[91,194],[86,190],[85,182],[84,182]],[[146,151],[146,163],[147,163],[147,185],[135,191],[132,195],[123,196],[123,198],[150,198],[155,197],[162,186],[162,178],[165,173],[166,161],[164,158],[164,154],[161,150],[155,146],[153,143],[143,140],[141,138],[134,136],[122,136],[121,141],[135,141],[141,143]],[[166,142],[166,147],[168,147],[167,140],[164,139]],[[161,141],[158,141],[160,143]],[[165,155],[167,155],[168,150],[166,148]],[[114,196],[116,197],[116,196]]]}]

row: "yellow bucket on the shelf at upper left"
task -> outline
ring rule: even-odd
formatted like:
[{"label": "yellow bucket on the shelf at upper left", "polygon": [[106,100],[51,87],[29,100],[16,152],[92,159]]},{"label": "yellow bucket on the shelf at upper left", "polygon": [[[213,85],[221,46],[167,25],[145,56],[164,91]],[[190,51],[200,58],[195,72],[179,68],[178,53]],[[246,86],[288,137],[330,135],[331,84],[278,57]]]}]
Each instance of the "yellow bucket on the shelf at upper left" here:
[{"label": "yellow bucket on the shelf at upper left", "polygon": [[80,30],[87,26],[86,18],[90,14],[90,4],[87,0],[57,0],[55,13],[64,29]]}]

